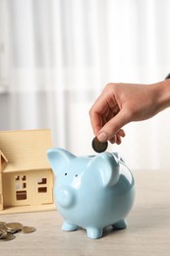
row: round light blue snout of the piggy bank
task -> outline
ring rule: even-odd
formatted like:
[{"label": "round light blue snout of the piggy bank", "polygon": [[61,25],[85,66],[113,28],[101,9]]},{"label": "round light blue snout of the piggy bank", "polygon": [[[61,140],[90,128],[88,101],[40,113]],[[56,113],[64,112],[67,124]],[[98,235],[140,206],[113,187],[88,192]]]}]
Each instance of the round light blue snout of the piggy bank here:
[{"label": "round light blue snout of the piggy bank", "polygon": [[57,191],[57,202],[63,208],[70,208],[75,203],[74,191],[69,187],[61,187]]}]

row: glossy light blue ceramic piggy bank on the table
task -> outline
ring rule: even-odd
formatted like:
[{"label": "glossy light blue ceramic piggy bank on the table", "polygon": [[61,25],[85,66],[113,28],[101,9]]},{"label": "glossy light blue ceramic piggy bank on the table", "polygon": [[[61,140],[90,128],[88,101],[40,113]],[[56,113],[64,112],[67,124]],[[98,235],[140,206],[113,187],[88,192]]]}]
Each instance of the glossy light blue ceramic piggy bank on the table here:
[{"label": "glossy light blue ceramic piggy bank on the table", "polygon": [[126,228],[135,181],[118,154],[76,157],[51,149],[47,156],[55,174],[54,201],[64,219],[63,230],[83,227],[88,237],[99,238],[109,225]]}]

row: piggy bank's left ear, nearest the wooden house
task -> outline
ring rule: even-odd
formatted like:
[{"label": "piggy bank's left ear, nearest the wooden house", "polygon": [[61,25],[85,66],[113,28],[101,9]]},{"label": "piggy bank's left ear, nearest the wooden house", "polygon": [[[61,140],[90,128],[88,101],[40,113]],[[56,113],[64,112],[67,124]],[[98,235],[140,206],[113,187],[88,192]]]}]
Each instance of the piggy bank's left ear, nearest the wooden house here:
[{"label": "piggy bank's left ear, nearest the wooden house", "polygon": [[49,149],[47,151],[47,157],[56,176],[60,173],[65,164],[67,164],[70,160],[76,158],[76,156],[74,156],[70,152],[58,148]]}]

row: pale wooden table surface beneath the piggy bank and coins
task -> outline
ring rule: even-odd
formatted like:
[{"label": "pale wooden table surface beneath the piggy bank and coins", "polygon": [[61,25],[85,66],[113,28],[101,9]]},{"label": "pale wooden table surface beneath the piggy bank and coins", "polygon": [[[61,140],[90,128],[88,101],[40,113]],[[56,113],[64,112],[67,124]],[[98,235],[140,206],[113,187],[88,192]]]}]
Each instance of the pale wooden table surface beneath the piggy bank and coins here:
[{"label": "pale wooden table surface beneath the piggy bank and coins", "polygon": [[36,231],[17,233],[0,242],[2,256],[166,256],[170,255],[170,170],[134,170],[136,201],[127,218],[128,228],[108,227],[100,239],[86,237],[84,229],[61,230],[57,211],[0,216],[0,222],[33,225]]}]

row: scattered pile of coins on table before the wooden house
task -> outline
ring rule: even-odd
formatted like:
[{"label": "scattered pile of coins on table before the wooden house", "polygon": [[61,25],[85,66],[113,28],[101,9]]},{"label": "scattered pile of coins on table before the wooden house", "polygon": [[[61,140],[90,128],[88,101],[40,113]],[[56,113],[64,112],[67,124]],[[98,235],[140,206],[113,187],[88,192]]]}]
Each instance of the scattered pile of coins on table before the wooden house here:
[{"label": "scattered pile of coins on table before the wooden house", "polygon": [[20,223],[4,223],[0,222],[0,241],[9,241],[16,238],[14,233],[23,232],[30,233],[35,231],[33,226],[24,226]]}]

